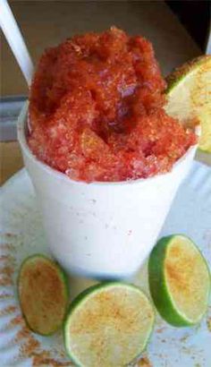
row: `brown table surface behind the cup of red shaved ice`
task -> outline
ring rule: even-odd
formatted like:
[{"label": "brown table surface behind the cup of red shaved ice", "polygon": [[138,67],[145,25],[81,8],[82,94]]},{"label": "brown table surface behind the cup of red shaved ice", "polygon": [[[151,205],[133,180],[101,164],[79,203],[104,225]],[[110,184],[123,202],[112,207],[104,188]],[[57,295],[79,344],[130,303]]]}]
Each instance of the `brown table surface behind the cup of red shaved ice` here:
[{"label": "brown table surface behind the cup of red shaved ice", "polygon": [[[155,47],[162,72],[200,55],[201,51],[163,1],[10,1],[34,64],[45,47],[88,30],[116,25],[131,34],[142,34]],[[28,90],[4,37],[2,38],[2,95],[27,95]],[[0,183],[18,171],[22,163],[17,141],[0,143]],[[211,164],[210,157],[202,157]]]}]

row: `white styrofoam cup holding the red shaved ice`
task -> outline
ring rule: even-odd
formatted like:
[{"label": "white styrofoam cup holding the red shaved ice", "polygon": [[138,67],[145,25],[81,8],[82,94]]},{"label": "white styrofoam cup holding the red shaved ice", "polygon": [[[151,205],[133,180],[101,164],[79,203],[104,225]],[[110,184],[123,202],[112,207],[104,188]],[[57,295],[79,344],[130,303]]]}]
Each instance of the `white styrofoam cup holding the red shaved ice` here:
[{"label": "white styrofoam cup holding the red shaved ice", "polygon": [[70,273],[86,277],[131,277],[156,243],[197,145],[165,175],[120,183],[75,182],[31,153],[27,111],[28,104],[21,111],[18,139],[55,259]]}]

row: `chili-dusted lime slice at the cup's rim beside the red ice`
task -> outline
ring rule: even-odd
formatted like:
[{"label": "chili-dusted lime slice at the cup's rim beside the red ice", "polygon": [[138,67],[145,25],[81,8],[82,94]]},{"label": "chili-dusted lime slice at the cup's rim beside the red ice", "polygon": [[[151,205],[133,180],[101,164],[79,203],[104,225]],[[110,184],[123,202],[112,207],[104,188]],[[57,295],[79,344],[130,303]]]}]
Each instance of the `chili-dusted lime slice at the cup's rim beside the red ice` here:
[{"label": "chili-dusted lime slice at the cup's rim beside the red ice", "polygon": [[201,124],[199,149],[211,153],[211,55],[182,65],[166,81],[166,112],[187,126]]}]

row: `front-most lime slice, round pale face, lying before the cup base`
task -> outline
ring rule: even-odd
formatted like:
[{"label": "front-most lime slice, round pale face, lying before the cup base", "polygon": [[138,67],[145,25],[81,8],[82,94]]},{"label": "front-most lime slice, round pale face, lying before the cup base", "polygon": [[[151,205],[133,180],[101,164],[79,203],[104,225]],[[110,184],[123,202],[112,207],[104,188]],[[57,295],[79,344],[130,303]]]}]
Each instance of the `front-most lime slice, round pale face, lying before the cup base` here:
[{"label": "front-most lime slice, round pale face, lying before the cup base", "polygon": [[91,286],[72,303],[64,342],[83,367],[128,365],[147,346],[155,312],[137,286],[111,282]]}]

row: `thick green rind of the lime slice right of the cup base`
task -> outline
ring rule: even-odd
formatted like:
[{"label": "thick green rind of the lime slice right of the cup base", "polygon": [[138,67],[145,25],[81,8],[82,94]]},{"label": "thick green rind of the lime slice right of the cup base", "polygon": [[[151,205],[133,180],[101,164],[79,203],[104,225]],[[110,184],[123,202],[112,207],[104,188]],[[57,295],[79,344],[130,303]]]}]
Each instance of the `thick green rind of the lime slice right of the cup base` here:
[{"label": "thick green rind of the lime slice right of the cup base", "polygon": [[[190,320],[187,315],[178,310],[173,301],[171,291],[165,279],[164,264],[167,248],[169,245],[171,245],[172,241],[174,241],[175,236],[184,237],[183,235],[170,235],[163,237],[161,240],[158,241],[158,243],[156,243],[156,246],[152,250],[148,260],[148,282],[150,293],[156,305],[156,309],[163,317],[163,319],[165,319],[169,324],[175,327],[188,327],[198,324],[198,322],[203,318],[204,314],[206,313],[206,310],[198,316],[198,320]],[[186,238],[190,240],[189,237]],[[192,243],[191,240],[190,242]],[[198,250],[198,247],[196,245],[195,248]],[[207,261],[199,250],[198,254],[204,261],[210,277],[210,271],[207,266]],[[207,303],[209,294],[210,286],[207,291]]]}]

